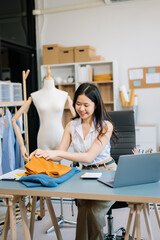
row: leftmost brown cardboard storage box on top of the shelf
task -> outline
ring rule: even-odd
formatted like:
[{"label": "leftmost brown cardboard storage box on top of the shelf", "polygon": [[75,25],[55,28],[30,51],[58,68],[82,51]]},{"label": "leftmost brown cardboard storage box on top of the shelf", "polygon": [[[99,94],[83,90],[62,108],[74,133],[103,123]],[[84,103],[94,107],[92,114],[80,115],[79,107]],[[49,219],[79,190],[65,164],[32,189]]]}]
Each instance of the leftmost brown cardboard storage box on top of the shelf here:
[{"label": "leftmost brown cardboard storage box on top of the shelf", "polygon": [[61,47],[59,44],[43,45],[43,65],[60,63]]}]

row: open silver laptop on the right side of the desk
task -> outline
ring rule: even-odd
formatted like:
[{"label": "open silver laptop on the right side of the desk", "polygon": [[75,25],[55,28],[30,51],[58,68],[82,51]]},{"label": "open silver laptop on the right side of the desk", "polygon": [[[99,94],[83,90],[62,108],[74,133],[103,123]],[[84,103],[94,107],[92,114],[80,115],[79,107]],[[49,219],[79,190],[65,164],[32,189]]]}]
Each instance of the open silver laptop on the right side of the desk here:
[{"label": "open silver laptop on the right side of the desk", "polygon": [[98,181],[116,188],[160,180],[160,153],[123,155],[119,157],[114,178],[107,176]]}]

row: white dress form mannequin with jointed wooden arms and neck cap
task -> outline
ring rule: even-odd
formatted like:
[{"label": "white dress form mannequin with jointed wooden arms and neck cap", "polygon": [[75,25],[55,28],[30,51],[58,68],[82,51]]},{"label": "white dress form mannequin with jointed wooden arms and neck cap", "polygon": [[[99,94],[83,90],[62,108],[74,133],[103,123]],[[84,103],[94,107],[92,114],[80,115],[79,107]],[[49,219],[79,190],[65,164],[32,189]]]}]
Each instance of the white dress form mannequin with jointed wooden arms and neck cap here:
[{"label": "white dress form mannequin with jointed wooden arms and neck cap", "polygon": [[47,70],[48,76],[44,80],[44,87],[31,94],[31,97],[22,105],[12,118],[13,127],[24,161],[28,161],[29,153],[24,145],[24,141],[16,121],[25,112],[28,111],[30,104],[34,103],[40,118],[40,129],[38,132],[37,143],[38,148],[56,149],[63,135],[62,115],[66,100],[68,100],[69,108],[74,116],[74,108],[72,100],[68,93],[59,90],[54,85],[54,79],[50,75],[50,69]]}]

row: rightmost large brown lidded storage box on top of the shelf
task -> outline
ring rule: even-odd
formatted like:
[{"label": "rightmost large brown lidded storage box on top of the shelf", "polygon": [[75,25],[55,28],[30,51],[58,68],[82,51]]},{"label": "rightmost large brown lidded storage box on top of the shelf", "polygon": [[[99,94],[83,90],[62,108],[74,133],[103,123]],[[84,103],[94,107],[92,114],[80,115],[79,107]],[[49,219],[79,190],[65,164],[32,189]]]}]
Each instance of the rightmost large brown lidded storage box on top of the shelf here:
[{"label": "rightmost large brown lidded storage box on top of the shelf", "polygon": [[77,46],[74,49],[75,62],[88,62],[96,54],[96,49],[92,46]]}]

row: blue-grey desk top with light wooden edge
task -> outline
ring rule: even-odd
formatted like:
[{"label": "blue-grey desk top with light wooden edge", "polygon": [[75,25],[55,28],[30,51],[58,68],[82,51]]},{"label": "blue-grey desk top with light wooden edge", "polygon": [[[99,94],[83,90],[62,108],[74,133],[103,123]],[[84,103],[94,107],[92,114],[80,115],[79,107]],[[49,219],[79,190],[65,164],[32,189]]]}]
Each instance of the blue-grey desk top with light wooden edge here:
[{"label": "blue-grey desk top with light wooden edge", "polygon": [[[160,182],[121,188],[110,188],[97,180],[81,179],[85,171],[75,174],[72,178],[57,187],[27,188],[16,181],[0,181],[0,194],[30,195],[43,197],[80,198],[93,200],[114,200],[127,202],[159,203]],[[102,171],[104,175],[112,175],[112,171]]]}]

